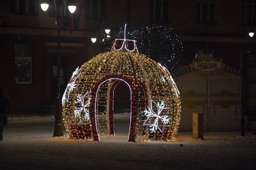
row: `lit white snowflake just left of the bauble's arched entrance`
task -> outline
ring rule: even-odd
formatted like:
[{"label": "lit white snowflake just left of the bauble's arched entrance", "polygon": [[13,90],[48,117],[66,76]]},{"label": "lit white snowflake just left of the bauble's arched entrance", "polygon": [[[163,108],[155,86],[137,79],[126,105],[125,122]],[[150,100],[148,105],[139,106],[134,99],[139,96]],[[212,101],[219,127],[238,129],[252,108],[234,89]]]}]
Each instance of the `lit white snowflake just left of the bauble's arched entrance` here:
[{"label": "lit white snowflake just left of the bauble's arched entrance", "polygon": [[[74,110],[74,114],[76,117],[80,118],[80,122],[82,123],[84,120],[89,120],[90,119],[90,115],[89,115],[89,92],[86,92],[86,94],[83,96],[82,94],[77,94],[77,101],[75,102],[75,110]],[[87,96],[86,96],[87,95]],[[85,98],[87,98],[88,100],[85,101]]]}]

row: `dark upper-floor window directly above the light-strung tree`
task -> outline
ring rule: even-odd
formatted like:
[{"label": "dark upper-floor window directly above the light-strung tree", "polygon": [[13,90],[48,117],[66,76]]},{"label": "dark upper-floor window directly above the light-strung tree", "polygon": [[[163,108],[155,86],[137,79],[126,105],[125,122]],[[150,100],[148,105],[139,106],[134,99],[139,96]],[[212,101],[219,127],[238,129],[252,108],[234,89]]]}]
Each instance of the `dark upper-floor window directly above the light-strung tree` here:
[{"label": "dark upper-floor window directly above the light-strung tree", "polygon": [[149,1],[149,20],[168,21],[168,1],[150,0]]}]

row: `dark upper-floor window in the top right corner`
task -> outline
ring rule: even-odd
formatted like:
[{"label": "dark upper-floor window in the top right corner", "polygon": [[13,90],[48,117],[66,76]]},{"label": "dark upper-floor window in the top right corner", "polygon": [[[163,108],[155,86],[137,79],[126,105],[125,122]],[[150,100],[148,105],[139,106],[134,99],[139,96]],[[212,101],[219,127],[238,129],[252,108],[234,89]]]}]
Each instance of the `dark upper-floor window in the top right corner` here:
[{"label": "dark upper-floor window in the top right corner", "polygon": [[256,25],[256,0],[242,0],[242,25]]}]

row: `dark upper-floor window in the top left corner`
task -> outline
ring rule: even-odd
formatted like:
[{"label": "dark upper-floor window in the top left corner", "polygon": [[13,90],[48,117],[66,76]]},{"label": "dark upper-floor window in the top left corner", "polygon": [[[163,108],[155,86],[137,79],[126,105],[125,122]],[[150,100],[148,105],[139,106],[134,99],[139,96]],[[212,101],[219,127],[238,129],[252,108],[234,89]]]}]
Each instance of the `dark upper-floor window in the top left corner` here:
[{"label": "dark upper-floor window in the top left corner", "polygon": [[36,15],[36,0],[11,0],[11,14]]}]

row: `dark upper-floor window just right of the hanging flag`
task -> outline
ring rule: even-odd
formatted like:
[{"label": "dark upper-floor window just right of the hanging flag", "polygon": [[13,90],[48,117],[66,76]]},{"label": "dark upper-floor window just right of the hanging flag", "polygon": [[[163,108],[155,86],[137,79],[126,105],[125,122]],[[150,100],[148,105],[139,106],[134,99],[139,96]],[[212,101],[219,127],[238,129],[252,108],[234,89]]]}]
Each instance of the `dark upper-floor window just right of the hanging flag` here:
[{"label": "dark upper-floor window just right of the hanging flag", "polygon": [[85,0],[85,18],[100,19],[106,16],[106,0]]}]

